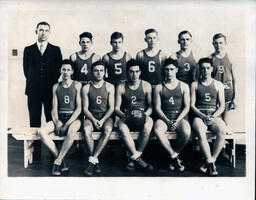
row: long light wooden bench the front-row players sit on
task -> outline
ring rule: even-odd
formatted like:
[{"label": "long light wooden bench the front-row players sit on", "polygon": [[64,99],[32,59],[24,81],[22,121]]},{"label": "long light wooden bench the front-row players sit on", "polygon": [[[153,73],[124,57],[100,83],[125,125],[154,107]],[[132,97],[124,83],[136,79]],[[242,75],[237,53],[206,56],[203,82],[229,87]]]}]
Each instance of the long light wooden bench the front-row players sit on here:
[{"label": "long light wooden bench the front-row players sit on", "polygon": [[[28,167],[28,164],[33,163],[33,142],[35,140],[40,140],[40,137],[37,132],[38,128],[12,128],[8,130],[8,134],[11,134],[16,140],[24,141],[24,168]],[[101,132],[93,132],[93,139],[98,140]],[[82,132],[78,132],[75,140],[82,140]],[[167,132],[169,140],[176,139],[175,132]],[[137,140],[139,137],[139,132],[131,132],[132,138]],[[59,137],[54,134],[54,132],[50,133],[50,137],[53,140],[64,140],[65,137]],[[236,131],[233,134],[226,134],[226,139],[232,140],[232,156],[230,159],[230,163],[235,168],[236,167],[236,139],[243,139],[245,137],[244,131]],[[215,134],[208,131],[207,132],[208,140],[213,140],[216,138]],[[110,135],[110,140],[120,140],[121,136],[117,131],[113,131]],[[150,139],[156,139],[156,137],[152,134]]]}]

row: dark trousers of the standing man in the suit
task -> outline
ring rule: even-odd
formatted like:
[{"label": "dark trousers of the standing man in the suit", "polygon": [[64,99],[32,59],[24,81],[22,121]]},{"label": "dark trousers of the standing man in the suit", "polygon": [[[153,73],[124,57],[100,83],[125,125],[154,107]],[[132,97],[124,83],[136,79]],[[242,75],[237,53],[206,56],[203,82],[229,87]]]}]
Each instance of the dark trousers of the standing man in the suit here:
[{"label": "dark trousers of the standing man in the suit", "polygon": [[[28,111],[30,127],[41,127],[42,104],[44,105],[44,114],[46,122],[52,120],[52,94],[28,95]],[[39,160],[41,157],[41,141],[36,140],[34,143],[33,157]]]}]

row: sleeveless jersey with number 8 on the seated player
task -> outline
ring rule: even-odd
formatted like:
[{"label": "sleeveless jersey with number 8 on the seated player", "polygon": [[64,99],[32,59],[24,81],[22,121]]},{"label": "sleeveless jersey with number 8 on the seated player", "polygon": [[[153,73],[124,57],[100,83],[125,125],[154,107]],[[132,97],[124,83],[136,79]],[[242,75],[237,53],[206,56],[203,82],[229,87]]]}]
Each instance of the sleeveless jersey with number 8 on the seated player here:
[{"label": "sleeveless jersey with number 8 on the seated player", "polygon": [[74,111],[76,108],[76,88],[75,81],[68,88],[64,88],[59,83],[56,90],[58,99],[58,111]]}]

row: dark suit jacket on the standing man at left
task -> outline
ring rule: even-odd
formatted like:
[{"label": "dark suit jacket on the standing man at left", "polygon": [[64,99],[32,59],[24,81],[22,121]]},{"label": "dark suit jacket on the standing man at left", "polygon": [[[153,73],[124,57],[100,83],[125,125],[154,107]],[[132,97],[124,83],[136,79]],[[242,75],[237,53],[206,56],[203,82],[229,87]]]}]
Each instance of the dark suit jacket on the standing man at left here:
[{"label": "dark suit jacket on the standing man at left", "polygon": [[52,93],[52,86],[58,82],[62,55],[60,48],[48,42],[41,55],[37,44],[24,49],[23,70],[26,77],[26,95]]}]

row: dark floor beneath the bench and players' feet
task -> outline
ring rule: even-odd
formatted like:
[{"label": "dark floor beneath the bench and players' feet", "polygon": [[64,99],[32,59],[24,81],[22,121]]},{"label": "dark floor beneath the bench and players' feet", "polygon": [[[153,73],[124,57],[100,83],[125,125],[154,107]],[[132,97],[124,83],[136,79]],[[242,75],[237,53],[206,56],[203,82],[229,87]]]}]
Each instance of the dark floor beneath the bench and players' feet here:
[{"label": "dark floor beneath the bench and players' feet", "polygon": [[[86,151],[76,152],[76,145],[73,145],[68,154],[67,161],[70,171],[63,176],[84,177],[83,170],[87,164]],[[218,160],[216,165],[219,177],[243,177],[245,176],[245,145],[237,145],[237,167],[234,169],[225,161]],[[76,152],[76,153],[74,153]],[[127,172],[125,150],[121,141],[109,141],[108,145],[100,156],[102,173],[99,177],[206,177],[199,171],[203,163],[201,154],[192,151],[192,144],[189,143],[183,150],[181,158],[186,166],[182,173],[168,170],[168,155],[157,141],[150,141],[145,149],[143,158],[154,167],[154,172],[147,174],[142,171]],[[34,161],[27,169],[23,167],[23,142],[17,141],[8,136],[8,176],[9,177],[48,177],[51,176],[52,156],[44,145],[42,145],[42,156],[40,161]]]}]

